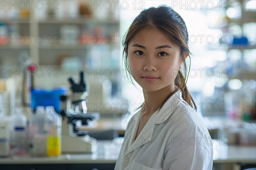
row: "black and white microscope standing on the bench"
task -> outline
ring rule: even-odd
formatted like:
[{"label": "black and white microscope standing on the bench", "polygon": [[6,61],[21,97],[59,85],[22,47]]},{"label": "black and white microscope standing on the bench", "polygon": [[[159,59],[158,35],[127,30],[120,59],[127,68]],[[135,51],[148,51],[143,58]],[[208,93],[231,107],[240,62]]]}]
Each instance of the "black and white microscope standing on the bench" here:
[{"label": "black and white microscope standing on the bench", "polygon": [[79,125],[88,125],[90,121],[99,119],[99,113],[87,112],[88,85],[84,81],[84,72],[80,72],[80,83],[73,77],[69,78],[71,94],[62,95],[64,109],[61,111],[62,153],[94,153],[97,151],[96,139],[90,137],[87,131],[79,130]]}]

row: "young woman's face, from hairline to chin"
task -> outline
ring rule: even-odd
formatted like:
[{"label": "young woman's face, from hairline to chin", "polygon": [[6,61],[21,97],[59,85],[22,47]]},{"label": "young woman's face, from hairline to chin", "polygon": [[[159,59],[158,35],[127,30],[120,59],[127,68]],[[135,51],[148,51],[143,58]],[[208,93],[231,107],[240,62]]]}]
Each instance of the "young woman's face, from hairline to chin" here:
[{"label": "young woman's face, from hairline to chin", "polygon": [[180,67],[180,48],[156,28],[143,29],[128,43],[132,77],[144,91],[175,87]]}]

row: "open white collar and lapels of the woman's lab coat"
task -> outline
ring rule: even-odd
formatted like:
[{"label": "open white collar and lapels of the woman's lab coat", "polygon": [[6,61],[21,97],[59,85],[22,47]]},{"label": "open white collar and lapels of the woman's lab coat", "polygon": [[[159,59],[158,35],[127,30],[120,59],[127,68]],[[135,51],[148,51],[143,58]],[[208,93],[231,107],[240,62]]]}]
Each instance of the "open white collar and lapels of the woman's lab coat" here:
[{"label": "open white collar and lapels of the woman's lab coat", "polygon": [[168,117],[172,114],[172,112],[178,107],[180,104],[180,101],[182,100],[181,92],[177,91],[175,94],[173,94],[163,105],[163,107],[156,112],[154,112],[151,117],[148,119],[148,122],[146,123],[145,127],[141,131],[141,133],[138,135],[137,139],[135,139],[135,135],[137,133],[137,129],[140,123],[140,116],[143,113],[144,105],[140,109],[140,111],[135,115],[133,122],[130,125],[130,128],[128,129],[128,140],[131,140],[128,142],[128,150],[125,153],[125,156],[128,153],[131,153],[136,148],[144,145],[145,143],[151,141],[152,134],[154,132],[154,125],[155,124],[161,124],[163,123]]}]

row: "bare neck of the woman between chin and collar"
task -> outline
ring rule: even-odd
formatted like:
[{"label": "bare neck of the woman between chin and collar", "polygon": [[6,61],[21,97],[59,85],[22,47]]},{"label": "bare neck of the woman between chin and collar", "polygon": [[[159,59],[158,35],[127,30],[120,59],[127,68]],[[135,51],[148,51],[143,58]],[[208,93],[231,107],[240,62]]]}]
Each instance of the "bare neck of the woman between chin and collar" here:
[{"label": "bare neck of the woman between chin and collar", "polygon": [[172,85],[168,85],[157,91],[143,90],[145,99],[145,111],[143,112],[143,116],[150,117],[155,111],[157,111],[172,91],[174,91],[174,87]]}]

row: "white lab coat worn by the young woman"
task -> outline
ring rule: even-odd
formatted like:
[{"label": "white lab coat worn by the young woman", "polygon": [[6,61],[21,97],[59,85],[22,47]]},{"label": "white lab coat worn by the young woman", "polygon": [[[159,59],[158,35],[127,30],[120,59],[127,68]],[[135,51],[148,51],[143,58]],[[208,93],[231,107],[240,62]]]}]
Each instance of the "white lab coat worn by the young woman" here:
[{"label": "white lab coat worn by the young woman", "polygon": [[115,170],[212,170],[212,139],[180,91],[152,114],[134,141],[142,110],[128,122]]}]

